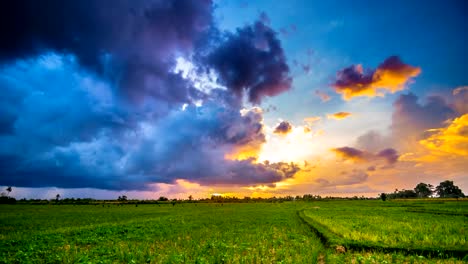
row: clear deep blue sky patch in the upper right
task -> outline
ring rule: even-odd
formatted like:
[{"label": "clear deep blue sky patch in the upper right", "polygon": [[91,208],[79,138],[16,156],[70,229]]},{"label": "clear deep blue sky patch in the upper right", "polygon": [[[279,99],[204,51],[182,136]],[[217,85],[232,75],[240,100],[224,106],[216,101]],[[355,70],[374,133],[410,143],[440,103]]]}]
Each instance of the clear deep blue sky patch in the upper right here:
[{"label": "clear deep blue sky patch in the upper right", "polygon": [[[313,89],[330,90],[330,79],[341,68],[358,63],[375,68],[390,55],[423,68],[411,86],[415,94],[451,90],[468,82],[465,1],[217,1],[215,14],[222,28],[234,30],[261,12],[278,31],[297,28],[287,36],[280,34],[289,61],[308,63],[308,50],[314,52],[313,74],[304,76],[293,67],[297,93],[274,98],[280,105],[290,99],[305,101],[304,92]],[[319,104],[311,110],[328,107]],[[291,112],[297,110],[285,114],[293,117]]]}]

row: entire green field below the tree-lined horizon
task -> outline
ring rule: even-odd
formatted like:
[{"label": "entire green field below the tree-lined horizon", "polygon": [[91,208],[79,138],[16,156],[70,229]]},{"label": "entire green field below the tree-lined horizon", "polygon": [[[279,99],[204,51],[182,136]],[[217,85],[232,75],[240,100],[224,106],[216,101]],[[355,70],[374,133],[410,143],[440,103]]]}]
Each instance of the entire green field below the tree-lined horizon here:
[{"label": "entire green field below the tree-lined horizon", "polygon": [[467,201],[1,205],[0,263],[466,263],[467,214]]}]

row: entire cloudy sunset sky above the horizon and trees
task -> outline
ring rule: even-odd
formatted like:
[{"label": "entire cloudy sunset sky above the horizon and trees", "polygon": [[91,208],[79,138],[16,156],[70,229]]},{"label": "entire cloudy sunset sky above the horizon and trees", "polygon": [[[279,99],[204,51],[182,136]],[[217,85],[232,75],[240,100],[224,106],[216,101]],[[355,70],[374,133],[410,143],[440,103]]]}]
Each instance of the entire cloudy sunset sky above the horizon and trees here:
[{"label": "entire cloudy sunset sky above the horizon and trees", "polygon": [[2,1],[18,199],[468,193],[466,1]]}]

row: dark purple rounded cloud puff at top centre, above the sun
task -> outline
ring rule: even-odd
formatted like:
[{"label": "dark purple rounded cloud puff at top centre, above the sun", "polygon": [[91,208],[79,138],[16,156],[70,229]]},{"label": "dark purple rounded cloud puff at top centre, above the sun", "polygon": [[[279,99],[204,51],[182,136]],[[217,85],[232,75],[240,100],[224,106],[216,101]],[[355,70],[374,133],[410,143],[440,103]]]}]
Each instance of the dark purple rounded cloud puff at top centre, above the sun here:
[{"label": "dark purple rounded cloud puff at top centre, above the sun", "polygon": [[292,79],[280,41],[262,22],[228,33],[206,60],[228,89],[238,95],[247,93],[254,104],[291,88]]}]

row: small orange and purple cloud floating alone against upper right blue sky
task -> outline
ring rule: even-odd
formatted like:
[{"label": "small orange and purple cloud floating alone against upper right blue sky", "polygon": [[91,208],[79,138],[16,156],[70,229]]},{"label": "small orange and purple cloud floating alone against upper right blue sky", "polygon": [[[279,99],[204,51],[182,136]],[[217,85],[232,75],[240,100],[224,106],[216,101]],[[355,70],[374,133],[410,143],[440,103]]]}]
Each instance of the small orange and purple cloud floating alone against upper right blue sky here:
[{"label": "small orange and purple cloud floating alone against upper right blue sky", "polygon": [[383,96],[384,92],[394,93],[404,89],[405,84],[421,72],[419,67],[403,63],[400,58],[387,58],[375,70],[364,70],[362,65],[352,65],[339,71],[332,84],[343,99],[356,96]]}]

